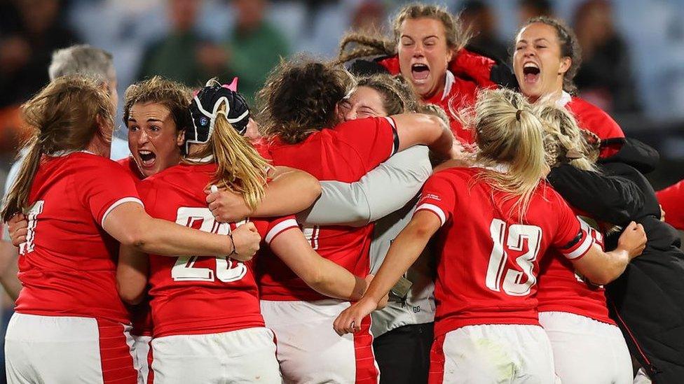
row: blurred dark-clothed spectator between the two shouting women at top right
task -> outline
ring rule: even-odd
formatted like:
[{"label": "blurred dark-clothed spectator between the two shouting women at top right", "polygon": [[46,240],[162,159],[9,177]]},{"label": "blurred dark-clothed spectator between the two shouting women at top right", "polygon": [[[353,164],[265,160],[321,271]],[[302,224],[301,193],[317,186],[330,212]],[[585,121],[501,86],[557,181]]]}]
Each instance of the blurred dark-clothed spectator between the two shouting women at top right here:
[{"label": "blurred dark-clothed spectator between the two shouting women at top right", "polygon": [[496,36],[496,19],[490,6],[481,0],[464,1],[460,20],[472,33],[470,48],[488,57],[508,60],[507,44]]}]

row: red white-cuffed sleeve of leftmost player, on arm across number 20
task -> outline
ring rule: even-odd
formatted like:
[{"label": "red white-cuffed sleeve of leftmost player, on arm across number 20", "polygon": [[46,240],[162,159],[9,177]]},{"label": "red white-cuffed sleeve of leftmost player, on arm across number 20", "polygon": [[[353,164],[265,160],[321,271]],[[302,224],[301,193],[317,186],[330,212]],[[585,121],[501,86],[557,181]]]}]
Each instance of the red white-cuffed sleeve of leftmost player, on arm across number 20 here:
[{"label": "red white-cuffed sleeve of leftmost player, on arm across number 20", "polygon": [[100,225],[111,210],[123,203],[142,205],[133,178],[109,159],[94,159],[92,166],[84,169],[80,182],[81,199]]}]

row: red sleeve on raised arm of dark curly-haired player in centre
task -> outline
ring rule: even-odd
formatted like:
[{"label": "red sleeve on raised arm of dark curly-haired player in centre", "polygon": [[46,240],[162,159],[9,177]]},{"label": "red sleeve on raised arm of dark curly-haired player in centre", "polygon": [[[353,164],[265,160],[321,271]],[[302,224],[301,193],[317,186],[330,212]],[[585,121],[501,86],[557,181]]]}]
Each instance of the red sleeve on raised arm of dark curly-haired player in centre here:
[{"label": "red sleeve on raised arm of dark curly-haired player in centre", "polygon": [[363,160],[366,171],[389,159],[399,149],[399,136],[392,118],[351,120],[334,129]]}]

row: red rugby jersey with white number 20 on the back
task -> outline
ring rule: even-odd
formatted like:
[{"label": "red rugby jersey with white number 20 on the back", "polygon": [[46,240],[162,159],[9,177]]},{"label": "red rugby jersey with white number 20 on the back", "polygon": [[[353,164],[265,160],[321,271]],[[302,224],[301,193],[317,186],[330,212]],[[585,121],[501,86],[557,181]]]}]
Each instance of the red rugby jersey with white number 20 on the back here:
[{"label": "red rugby jersey with white number 20 on the back", "polygon": [[[205,232],[228,234],[241,223],[219,223],[207,208],[205,187],[216,164],[179,164],[143,180],[140,196],[147,212]],[[294,217],[255,219],[263,239],[254,259],[275,257],[266,247],[278,234],[297,227]],[[226,237],[226,241],[229,241]],[[154,336],[212,334],[263,327],[252,263],[228,257],[150,255]]]}]

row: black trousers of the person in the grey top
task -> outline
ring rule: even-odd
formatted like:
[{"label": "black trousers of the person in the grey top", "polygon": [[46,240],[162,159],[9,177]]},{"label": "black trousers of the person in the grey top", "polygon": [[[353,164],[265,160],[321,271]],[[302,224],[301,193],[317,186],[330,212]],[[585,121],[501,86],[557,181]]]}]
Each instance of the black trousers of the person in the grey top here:
[{"label": "black trousers of the person in the grey top", "polygon": [[435,323],[404,325],[373,341],[380,384],[427,383]]}]

